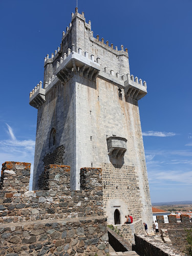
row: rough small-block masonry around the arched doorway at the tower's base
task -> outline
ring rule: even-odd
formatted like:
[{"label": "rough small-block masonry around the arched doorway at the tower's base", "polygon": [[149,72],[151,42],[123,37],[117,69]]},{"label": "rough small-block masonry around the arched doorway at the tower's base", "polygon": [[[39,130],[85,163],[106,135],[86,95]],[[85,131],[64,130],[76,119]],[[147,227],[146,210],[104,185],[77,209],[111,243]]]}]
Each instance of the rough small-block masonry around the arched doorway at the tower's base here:
[{"label": "rough small-block masonry around the arched doorway at the tower's base", "polygon": [[[114,211],[120,211],[120,224],[125,222],[125,215],[141,218],[140,189],[134,166],[104,163],[102,167],[103,205],[110,224],[114,224]],[[119,207],[116,207],[119,206]],[[112,219],[113,218],[113,219]]]}]

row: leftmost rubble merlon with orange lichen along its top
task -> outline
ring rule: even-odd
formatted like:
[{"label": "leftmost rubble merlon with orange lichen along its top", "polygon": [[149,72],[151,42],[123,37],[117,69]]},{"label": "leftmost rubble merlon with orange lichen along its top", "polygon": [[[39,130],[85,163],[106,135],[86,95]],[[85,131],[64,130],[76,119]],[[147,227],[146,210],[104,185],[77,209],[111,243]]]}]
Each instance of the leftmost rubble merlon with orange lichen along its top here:
[{"label": "leftmost rubble merlon with orange lichen along its top", "polygon": [[[29,190],[30,163],[5,162],[2,165],[0,190],[27,191]],[[7,195],[8,197],[8,195]]]}]

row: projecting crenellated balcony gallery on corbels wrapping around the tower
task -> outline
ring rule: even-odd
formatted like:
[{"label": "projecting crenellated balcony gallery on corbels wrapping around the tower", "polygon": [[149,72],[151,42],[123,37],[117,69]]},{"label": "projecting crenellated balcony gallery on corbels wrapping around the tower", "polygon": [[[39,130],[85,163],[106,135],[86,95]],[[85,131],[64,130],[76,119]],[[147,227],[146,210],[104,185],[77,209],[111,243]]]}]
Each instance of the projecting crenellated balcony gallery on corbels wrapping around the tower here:
[{"label": "projecting crenellated balcony gallery on corbels wrapping around the tower", "polygon": [[[56,58],[57,54],[52,58],[48,57],[45,60],[45,65],[47,63],[52,63]],[[52,75],[48,81],[45,81],[44,88],[42,88],[42,82],[37,84],[32,92],[30,92],[30,105],[38,109],[46,101],[46,93],[60,80],[62,84],[69,81],[75,74],[79,74],[84,78],[96,81],[99,77],[106,81],[110,81],[116,84],[119,88],[124,89],[124,95],[130,96],[137,100],[141,99],[146,95],[146,82],[142,82],[141,79],[130,74],[121,75],[119,73],[114,73],[113,69],[108,67],[101,67],[100,58],[93,54],[89,54],[88,51],[82,53],[82,49],[79,48],[75,52],[75,45],[72,45],[71,49],[68,48],[67,52],[63,54],[63,57],[59,58],[56,62],[55,75]]]}]

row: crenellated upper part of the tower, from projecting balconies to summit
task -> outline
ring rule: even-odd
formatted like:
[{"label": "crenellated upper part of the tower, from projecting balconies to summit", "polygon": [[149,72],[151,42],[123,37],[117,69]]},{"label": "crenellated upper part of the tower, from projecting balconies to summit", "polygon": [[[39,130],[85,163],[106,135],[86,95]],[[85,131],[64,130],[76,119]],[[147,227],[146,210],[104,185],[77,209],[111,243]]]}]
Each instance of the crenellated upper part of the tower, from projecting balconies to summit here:
[{"label": "crenellated upper part of the tower, from projecting balconies to summit", "polygon": [[[85,30],[84,30],[85,28]],[[84,31],[84,32],[83,32]],[[84,35],[84,36],[82,36]],[[85,44],[86,41],[86,44]],[[104,51],[103,51],[104,50]],[[94,53],[97,53],[95,56]],[[30,92],[30,105],[38,109],[46,101],[46,93],[58,82],[65,84],[75,74],[96,81],[96,78],[110,81],[120,89],[125,89],[125,96],[136,100],[146,95],[146,82],[130,76],[129,55],[123,45],[120,50],[104,38],[99,40],[91,31],[91,21],[86,23],[84,12],[72,13],[72,22],[66,32],[62,32],[60,46],[45,57],[44,86],[40,81]],[[46,90],[46,91],[45,91]]]}]

